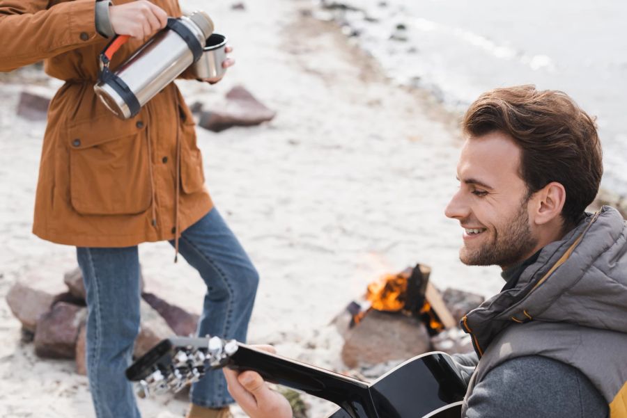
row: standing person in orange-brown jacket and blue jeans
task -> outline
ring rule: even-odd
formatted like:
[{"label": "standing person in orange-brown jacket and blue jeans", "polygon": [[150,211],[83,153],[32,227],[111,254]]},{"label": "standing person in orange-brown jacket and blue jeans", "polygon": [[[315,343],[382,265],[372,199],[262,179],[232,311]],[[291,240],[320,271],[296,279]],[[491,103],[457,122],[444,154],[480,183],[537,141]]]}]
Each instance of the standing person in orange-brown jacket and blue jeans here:
[{"label": "standing person in orange-brown jacket and blue jeans", "polygon": [[[194,120],[176,85],[129,120],[116,118],[93,92],[105,36],[133,37],[114,56],[115,68],[162,29],[167,16],[180,16],[177,0],[102,6],[95,0],[0,0],[0,71],[45,60],[45,72],[65,81],[49,106],[33,232],[77,247],[97,417],[135,418],[124,370],[139,330],[137,245],[169,240],[199,271],[207,284],[200,335],[245,340],[258,275],[212,207]],[[224,417],[231,402],[222,373],[208,373],[192,388],[189,416]]]}]

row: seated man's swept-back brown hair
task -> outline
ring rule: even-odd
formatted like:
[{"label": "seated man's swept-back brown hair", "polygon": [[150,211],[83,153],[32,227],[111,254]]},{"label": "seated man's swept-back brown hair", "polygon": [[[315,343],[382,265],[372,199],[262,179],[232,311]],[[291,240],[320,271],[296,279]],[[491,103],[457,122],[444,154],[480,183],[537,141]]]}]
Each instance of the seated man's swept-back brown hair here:
[{"label": "seated man's swept-back brown hair", "polygon": [[576,225],[596,197],[603,175],[596,124],[566,93],[535,86],[490,90],[470,105],[463,129],[470,136],[502,131],[513,138],[529,196],[550,182],[562,184],[564,227]]}]

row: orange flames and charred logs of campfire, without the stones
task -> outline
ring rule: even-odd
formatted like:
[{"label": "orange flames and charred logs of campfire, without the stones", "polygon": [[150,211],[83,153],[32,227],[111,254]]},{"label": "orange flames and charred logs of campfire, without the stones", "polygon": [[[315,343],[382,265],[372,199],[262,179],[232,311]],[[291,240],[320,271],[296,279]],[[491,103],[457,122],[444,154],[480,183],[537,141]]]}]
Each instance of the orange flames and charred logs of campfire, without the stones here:
[{"label": "orange flames and charred logs of campfire, without the stones", "polygon": [[348,311],[353,315],[350,327],[359,324],[371,310],[415,316],[424,323],[431,336],[455,326],[456,321],[440,293],[428,282],[430,273],[431,268],[418,264],[415,268],[387,274],[371,282],[365,300],[348,305]]}]

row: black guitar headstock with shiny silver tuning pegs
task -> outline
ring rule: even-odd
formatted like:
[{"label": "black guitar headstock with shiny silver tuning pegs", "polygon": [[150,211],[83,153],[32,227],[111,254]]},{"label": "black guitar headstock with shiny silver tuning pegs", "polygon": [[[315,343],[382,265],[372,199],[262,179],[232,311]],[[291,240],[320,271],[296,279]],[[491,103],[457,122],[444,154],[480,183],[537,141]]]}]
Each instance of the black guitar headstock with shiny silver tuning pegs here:
[{"label": "black guitar headstock with shiny silver tuning pegs", "polygon": [[126,369],[126,378],[137,382],[137,394],[141,398],[178,392],[200,380],[207,369],[226,366],[235,351],[238,351],[238,342],[234,339],[164,339]]}]

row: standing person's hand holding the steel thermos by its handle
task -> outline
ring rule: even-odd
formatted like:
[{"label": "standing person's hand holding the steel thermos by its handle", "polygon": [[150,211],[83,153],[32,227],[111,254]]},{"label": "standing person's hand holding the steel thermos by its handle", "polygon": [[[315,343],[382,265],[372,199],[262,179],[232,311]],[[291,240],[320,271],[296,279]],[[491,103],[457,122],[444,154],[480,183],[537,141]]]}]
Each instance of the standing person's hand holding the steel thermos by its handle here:
[{"label": "standing person's hand holding the steel thermos by its handle", "polygon": [[117,35],[144,40],[168,24],[168,14],[147,0],[109,6],[111,27]]}]

